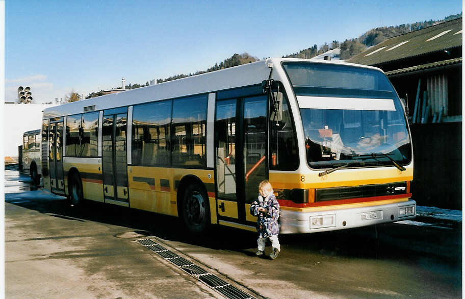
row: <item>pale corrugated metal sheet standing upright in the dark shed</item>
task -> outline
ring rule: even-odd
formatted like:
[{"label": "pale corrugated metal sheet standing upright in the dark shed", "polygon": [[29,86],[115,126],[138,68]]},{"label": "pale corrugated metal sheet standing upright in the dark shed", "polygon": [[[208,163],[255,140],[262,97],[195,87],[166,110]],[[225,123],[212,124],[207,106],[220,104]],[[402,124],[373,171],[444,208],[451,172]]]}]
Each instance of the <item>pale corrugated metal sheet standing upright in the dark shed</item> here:
[{"label": "pale corrugated metal sheet standing upright in the dark shed", "polygon": [[437,114],[444,107],[444,116],[448,114],[448,80],[446,74],[438,74],[436,76],[428,77],[427,79],[427,92],[428,92],[428,106],[430,107],[431,114]]}]

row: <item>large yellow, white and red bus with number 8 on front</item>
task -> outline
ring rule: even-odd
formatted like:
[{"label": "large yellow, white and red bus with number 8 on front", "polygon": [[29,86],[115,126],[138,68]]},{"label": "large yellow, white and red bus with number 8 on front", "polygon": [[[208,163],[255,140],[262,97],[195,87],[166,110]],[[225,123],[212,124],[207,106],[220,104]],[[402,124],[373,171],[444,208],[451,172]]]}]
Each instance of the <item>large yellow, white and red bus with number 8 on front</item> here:
[{"label": "large yellow, white and red bus with number 8 on front", "polygon": [[255,231],[269,180],[283,234],[411,219],[412,144],[382,70],[273,58],[46,108],[44,187]]}]

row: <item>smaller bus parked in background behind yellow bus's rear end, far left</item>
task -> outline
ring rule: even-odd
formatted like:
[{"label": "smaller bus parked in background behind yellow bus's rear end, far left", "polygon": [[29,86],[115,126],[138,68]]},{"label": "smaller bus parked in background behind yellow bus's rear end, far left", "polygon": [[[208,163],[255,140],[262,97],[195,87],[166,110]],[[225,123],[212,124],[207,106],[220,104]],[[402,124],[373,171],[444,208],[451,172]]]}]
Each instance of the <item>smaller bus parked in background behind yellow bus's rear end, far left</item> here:
[{"label": "smaller bus parked in background behind yellow bus's rear end, far left", "polygon": [[38,183],[41,176],[40,131],[40,129],[27,131],[22,135],[22,171],[29,172],[34,183]]}]

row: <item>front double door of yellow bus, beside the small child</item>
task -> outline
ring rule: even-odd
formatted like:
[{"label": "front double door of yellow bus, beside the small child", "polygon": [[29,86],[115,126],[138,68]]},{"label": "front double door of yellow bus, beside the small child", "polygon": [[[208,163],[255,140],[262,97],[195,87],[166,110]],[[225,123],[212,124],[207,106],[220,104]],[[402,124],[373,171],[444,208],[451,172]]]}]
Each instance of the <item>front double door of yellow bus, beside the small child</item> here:
[{"label": "front double door of yellow bus, beside the small child", "polygon": [[[237,117],[239,115],[239,117]],[[268,178],[267,96],[217,101],[217,211],[220,220],[247,223],[259,183]]]}]

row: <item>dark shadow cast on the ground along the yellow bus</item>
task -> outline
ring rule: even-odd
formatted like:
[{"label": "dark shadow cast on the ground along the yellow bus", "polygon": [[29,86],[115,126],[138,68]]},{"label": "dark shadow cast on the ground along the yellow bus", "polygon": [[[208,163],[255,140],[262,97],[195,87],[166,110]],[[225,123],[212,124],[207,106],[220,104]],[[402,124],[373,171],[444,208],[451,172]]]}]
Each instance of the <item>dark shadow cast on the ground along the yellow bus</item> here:
[{"label": "dark shadow cast on the ground along the yellow bus", "polygon": [[[34,190],[34,188],[30,189]],[[255,254],[256,233],[253,232],[212,226],[207,233],[192,235],[177,217],[90,201],[85,201],[84,205],[79,208],[71,207],[63,197],[49,194],[41,189],[31,192],[9,193],[8,196],[6,194],[5,201],[70,221],[108,223],[126,227],[128,230],[134,230],[141,235],[153,235],[166,240],[185,242],[214,250],[237,251],[250,256]],[[293,251],[329,256],[398,259],[404,257],[406,251],[415,251],[415,246],[422,246],[417,243],[424,240],[415,240],[415,237],[419,235],[418,230],[421,230],[419,232],[424,234],[424,238],[431,238],[429,232],[424,231],[425,229],[390,223],[315,234],[280,235],[279,240],[283,249],[292,246]],[[461,230],[458,234],[461,241]],[[426,242],[430,242],[430,240]],[[461,242],[458,245],[461,246]],[[460,254],[456,256],[452,252],[451,257],[454,261],[457,259],[461,261]]]}]

